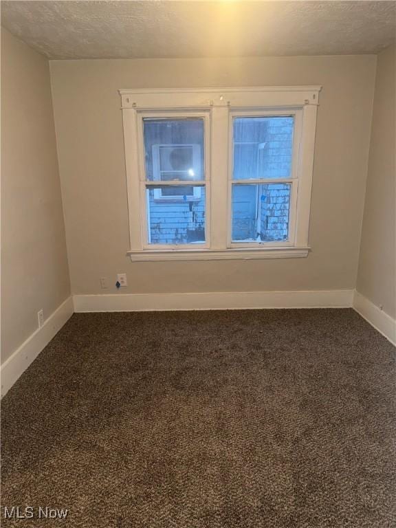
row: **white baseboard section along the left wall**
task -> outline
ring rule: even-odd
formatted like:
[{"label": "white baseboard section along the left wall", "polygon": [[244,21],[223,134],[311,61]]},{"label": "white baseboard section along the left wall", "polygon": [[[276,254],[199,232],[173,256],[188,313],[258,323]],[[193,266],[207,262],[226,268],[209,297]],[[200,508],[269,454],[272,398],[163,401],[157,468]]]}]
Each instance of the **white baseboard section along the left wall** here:
[{"label": "white baseboard section along the left wall", "polygon": [[54,313],[45,320],[44,325],[32,335],[1,365],[1,397],[7,393],[39,353],[73,315],[73,300],[69,297]]}]

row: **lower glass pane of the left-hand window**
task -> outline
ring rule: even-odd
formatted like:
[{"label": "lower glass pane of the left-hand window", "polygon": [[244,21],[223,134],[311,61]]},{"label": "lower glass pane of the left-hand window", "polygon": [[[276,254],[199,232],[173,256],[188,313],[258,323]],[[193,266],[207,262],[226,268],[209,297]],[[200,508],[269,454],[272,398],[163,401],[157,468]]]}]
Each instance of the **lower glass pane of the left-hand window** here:
[{"label": "lower glass pane of the left-hand window", "polygon": [[148,243],[205,242],[205,187],[149,187],[146,206]]}]

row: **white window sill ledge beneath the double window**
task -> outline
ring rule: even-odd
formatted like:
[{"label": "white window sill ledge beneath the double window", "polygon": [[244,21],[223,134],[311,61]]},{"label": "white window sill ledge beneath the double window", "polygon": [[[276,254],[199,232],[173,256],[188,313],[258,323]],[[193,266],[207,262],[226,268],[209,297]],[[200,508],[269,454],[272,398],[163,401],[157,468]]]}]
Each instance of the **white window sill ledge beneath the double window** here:
[{"label": "white window sill ledge beneath the double window", "polygon": [[298,259],[309,248],[240,248],[228,250],[144,250],[129,251],[132,262],[166,261],[251,261],[258,259]]}]

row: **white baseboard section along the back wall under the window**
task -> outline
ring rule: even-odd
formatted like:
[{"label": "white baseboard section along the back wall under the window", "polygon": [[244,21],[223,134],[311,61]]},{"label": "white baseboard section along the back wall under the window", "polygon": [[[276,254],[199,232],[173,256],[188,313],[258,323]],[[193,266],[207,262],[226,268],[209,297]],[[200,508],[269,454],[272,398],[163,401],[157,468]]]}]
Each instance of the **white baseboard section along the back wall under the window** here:
[{"label": "white baseboard section along the back wall under the window", "polygon": [[232,310],[346,308],[353,289],[307,292],[207,292],[191,294],[75,295],[74,311]]}]

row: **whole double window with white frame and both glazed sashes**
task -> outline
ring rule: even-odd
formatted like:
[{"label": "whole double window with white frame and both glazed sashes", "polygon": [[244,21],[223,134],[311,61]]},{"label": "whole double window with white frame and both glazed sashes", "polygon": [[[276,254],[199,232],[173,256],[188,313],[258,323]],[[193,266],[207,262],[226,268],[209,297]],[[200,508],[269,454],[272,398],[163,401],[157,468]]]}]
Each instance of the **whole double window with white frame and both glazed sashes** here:
[{"label": "whole double window with white frame and both glazed sashes", "polygon": [[307,256],[319,91],[121,90],[131,259]]}]

